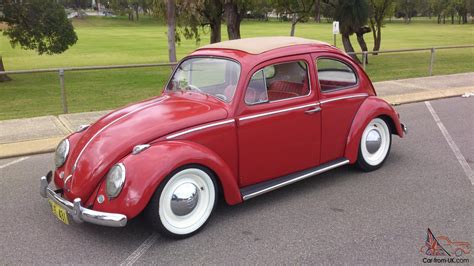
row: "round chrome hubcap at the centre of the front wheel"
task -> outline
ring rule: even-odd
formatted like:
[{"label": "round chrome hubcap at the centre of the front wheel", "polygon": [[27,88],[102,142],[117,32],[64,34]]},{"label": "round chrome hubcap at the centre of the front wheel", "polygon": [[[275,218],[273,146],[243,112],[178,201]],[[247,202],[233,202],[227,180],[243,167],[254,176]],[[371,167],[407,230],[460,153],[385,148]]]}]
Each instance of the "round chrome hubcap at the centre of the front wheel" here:
[{"label": "round chrome hubcap at the centre of the front wheel", "polygon": [[199,200],[198,188],[193,183],[178,186],[171,196],[171,211],[176,216],[191,213]]}]

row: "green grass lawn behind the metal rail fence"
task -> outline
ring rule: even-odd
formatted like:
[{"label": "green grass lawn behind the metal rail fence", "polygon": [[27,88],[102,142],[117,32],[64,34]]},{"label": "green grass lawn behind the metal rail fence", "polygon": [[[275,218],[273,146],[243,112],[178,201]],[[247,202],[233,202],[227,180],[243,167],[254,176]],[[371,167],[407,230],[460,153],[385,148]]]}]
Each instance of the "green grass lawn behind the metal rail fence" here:
[{"label": "green grass lawn behind the metal rail fence", "polygon": [[[63,66],[114,65],[166,62],[168,49],[166,27],[154,19],[142,17],[140,22],[124,18],[87,18],[75,20],[79,37],[76,45],[61,55],[36,55],[19,47],[13,49],[0,35],[0,54],[7,70]],[[298,24],[296,36],[332,43],[332,25],[328,23]],[[287,22],[254,22],[242,24],[243,37],[288,35]],[[222,28],[225,37],[225,25]],[[473,45],[474,25],[438,25],[432,21],[415,21],[406,25],[388,23],[383,28],[382,50],[445,45]],[[183,40],[178,57],[183,57],[202,41]],[[372,34],[366,34],[369,47]],[[340,38],[337,41],[340,47]],[[358,45],[353,40],[357,49]],[[372,56],[367,67],[373,81],[425,76],[429,52]],[[437,51],[434,74],[474,71],[474,49]],[[66,72],[66,89],[70,112],[116,108],[129,102],[159,94],[170,69],[143,68]],[[11,82],[0,83],[0,119],[60,114],[59,80],[55,73],[11,75]]]}]

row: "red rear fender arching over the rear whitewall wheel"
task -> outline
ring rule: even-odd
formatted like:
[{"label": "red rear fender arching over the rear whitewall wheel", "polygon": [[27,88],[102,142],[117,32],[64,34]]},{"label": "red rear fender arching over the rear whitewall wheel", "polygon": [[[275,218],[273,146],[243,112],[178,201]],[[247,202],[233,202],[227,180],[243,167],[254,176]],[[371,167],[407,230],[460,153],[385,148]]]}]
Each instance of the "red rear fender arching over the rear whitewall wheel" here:
[{"label": "red rear fender arching over the rear whitewall wheel", "polygon": [[[352,122],[351,130],[347,136],[345,157],[349,159],[350,163],[355,163],[359,152],[360,139],[364,129],[369,122],[379,116],[385,116],[391,119],[392,130],[403,137],[403,130],[398,118],[398,113],[386,101],[376,97],[370,96],[361,104]],[[390,126],[390,125],[389,125]],[[392,131],[392,134],[394,132]]]}]

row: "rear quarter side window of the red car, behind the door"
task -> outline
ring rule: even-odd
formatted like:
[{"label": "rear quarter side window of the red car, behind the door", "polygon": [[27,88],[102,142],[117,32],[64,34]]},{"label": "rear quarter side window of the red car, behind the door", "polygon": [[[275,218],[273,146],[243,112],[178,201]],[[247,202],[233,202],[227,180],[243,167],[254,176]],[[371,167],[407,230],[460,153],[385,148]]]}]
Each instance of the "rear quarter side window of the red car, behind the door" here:
[{"label": "rear quarter side window of the red car, behind the door", "polygon": [[357,84],[357,77],[350,66],[339,60],[319,58],[318,79],[322,92],[351,87]]}]

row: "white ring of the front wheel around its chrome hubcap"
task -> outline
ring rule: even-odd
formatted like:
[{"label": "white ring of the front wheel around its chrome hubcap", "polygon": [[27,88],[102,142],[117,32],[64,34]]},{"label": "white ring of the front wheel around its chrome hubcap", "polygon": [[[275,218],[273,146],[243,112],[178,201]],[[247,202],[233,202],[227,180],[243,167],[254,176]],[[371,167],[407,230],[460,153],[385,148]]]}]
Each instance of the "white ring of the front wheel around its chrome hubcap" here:
[{"label": "white ring of the front wheel around its chrome hubcap", "polygon": [[[184,216],[177,216],[171,210],[174,190],[184,183],[192,183],[199,189],[199,200],[195,209]],[[198,168],[188,168],[172,176],[163,188],[159,201],[159,216],[163,227],[172,234],[187,235],[201,228],[211,215],[216,201],[216,189],[212,178]]]}]

